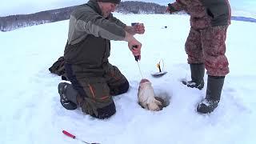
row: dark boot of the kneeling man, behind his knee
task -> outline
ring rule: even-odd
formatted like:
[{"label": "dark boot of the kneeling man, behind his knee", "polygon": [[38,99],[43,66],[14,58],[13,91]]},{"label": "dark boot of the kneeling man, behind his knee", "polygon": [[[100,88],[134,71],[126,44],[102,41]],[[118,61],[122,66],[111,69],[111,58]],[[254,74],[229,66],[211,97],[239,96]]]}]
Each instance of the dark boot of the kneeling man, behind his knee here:
[{"label": "dark boot of the kneeling man, behind his knee", "polygon": [[77,106],[78,92],[74,90],[73,86],[66,82],[58,84],[58,94],[60,95],[60,102],[66,110],[75,110]]}]

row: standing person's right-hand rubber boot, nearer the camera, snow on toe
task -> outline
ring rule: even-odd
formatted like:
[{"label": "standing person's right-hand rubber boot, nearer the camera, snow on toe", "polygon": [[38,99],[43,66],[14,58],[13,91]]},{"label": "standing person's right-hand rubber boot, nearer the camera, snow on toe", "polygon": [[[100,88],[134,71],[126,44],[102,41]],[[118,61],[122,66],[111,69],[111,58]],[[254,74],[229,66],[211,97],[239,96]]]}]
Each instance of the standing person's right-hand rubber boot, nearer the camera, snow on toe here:
[{"label": "standing person's right-hand rubber boot, nearer the camera, snow on toe", "polygon": [[206,98],[198,104],[197,111],[201,114],[210,114],[218,106],[222,94],[225,76],[208,76]]}]

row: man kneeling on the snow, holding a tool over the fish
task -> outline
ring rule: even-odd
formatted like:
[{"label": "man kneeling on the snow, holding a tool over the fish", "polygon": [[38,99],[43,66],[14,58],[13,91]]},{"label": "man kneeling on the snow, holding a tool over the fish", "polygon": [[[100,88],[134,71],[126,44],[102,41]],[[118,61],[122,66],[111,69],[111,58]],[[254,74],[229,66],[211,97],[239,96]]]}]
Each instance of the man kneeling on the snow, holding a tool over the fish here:
[{"label": "man kneeling on the snow, holding a tool over the fish", "polygon": [[[120,0],[90,0],[70,15],[64,51],[65,70],[72,83],[58,85],[60,102],[67,110],[78,106],[94,118],[109,118],[116,109],[111,96],[126,93],[129,82],[108,62],[110,40],[126,41],[140,59],[142,44],[134,34],[144,34],[143,24],[126,26],[111,14]],[[133,49],[133,46],[137,48]]]}]

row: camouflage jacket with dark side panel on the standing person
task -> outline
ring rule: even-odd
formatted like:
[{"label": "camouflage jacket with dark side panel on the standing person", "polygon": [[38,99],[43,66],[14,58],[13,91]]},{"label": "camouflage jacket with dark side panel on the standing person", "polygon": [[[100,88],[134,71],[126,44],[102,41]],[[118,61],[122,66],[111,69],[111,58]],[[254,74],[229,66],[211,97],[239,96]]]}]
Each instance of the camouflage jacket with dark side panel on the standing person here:
[{"label": "camouflage jacket with dark side panel on the standing person", "polygon": [[194,29],[208,26],[230,25],[230,3],[228,0],[176,0],[168,4],[170,13],[185,10],[190,14],[190,25]]}]

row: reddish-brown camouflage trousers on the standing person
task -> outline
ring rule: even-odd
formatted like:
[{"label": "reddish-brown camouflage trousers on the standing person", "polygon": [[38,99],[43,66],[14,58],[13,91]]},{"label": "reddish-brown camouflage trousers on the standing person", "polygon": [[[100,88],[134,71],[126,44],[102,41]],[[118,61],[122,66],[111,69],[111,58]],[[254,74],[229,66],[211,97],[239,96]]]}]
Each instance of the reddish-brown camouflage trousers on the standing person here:
[{"label": "reddish-brown camouflage trousers on the standing person", "polygon": [[190,28],[186,39],[188,63],[205,63],[207,74],[225,76],[230,72],[226,58],[226,30],[228,26],[214,26],[202,30]]}]

